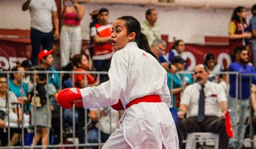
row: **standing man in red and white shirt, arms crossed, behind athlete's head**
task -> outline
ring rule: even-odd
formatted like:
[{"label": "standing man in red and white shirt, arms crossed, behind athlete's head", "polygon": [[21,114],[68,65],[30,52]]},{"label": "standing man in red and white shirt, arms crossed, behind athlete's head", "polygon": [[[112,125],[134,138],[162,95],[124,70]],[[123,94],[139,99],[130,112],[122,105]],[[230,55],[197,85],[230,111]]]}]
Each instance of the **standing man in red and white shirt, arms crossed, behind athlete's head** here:
[{"label": "standing man in red and white shirt, arms crossed, behind athlete's head", "polygon": [[[108,22],[109,10],[102,8],[99,10],[98,23],[91,28],[93,38],[93,64],[97,71],[108,71],[114,51],[112,49],[112,24]],[[107,75],[100,77],[100,82],[108,80]]]}]

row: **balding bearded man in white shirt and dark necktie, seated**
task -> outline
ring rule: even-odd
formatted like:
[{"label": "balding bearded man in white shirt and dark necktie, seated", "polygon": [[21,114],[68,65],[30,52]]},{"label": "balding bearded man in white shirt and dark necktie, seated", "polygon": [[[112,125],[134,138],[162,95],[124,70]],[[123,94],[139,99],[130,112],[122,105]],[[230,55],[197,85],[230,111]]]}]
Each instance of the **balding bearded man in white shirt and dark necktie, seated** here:
[{"label": "balding bearded man in white shirt and dark necktie, seated", "polygon": [[187,86],[181,97],[177,113],[179,148],[183,148],[182,140],[187,132],[219,133],[219,148],[227,148],[228,137],[225,129],[227,98],[219,84],[207,80],[208,75],[209,71],[204,65],[197,65],[194,69],[197,83]]}]

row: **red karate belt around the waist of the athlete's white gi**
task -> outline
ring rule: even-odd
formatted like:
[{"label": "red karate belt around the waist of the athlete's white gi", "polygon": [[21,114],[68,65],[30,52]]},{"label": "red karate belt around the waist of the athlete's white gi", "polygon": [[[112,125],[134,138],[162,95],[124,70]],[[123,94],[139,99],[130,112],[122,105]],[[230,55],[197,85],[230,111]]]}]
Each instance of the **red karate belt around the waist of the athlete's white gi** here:
[{"label": "red karate belt around the waist of the athlete's white gi", "polygon": [[[147,95],[147,96],[144,96],[144,97],[136,98],[135,100],[128,103],[125,108],[126,109],[130,108],[133,104],[138,104],[140,102],[161,102],[161,98],[160,98],[159,95]],[[118,111],[124,110],[124,107],[123,107],[123,104],[122,104],[121,100],[118,100],[118,103],[116,103],[114,105],[111,105],[111,107],[114,110],[118,110]]]}]

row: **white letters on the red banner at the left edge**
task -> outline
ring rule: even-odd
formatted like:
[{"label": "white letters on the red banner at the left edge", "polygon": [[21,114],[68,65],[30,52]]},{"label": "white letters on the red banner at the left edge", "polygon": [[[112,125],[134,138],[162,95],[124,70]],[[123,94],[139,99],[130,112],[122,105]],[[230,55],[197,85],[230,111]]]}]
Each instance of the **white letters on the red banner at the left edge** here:
[{"label": "white letters on the red banner at the left edge", "polygon": [[[22,61],[26,60],[26,58],[16,58],[16,57],[9,57],[9,61],[4,56],[0,56],[0,67],[8,70],[12,69],[14,66],[16,66],[17,62],[22,63]],[[2,65],[4,63],[4,65]]]}]

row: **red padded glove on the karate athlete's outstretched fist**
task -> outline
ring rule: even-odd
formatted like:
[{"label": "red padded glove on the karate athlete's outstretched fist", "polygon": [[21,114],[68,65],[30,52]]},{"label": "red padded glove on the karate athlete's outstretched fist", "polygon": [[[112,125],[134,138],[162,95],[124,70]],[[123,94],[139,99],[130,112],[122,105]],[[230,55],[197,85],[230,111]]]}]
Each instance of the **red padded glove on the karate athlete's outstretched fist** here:
[{"label": "red padded glove on the karate athlete's outstretched fist", "polygon": [[57,96],[60,107],[71,109],[75,103],[76,107],[83,107],[82,95],[79,88],[65,88]]}]

